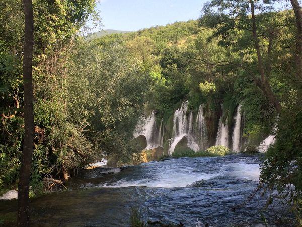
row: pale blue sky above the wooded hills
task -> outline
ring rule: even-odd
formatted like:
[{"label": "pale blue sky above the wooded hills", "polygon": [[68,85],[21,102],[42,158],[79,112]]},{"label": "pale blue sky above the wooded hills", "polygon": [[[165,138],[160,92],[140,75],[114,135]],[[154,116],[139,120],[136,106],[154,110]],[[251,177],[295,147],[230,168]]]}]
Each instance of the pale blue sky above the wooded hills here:
[{"label": "pale blue sky above the wooded hills", "polygon": [[137,31],[196,20],[205,0],[99,0],[103,29]]}]

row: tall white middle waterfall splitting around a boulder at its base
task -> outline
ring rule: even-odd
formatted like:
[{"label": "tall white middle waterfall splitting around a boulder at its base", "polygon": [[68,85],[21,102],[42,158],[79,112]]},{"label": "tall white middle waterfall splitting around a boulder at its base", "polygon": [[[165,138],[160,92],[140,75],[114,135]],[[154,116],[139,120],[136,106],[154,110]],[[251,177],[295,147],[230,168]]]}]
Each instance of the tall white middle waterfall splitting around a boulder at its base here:
[{"label": "tall white middle waterfall splitting around a boulder at its base", "polygon": [[193,112],[190,112],[189,118],[186,113],[188,111],[188,101],[182,103],[181,108],[174,112],[173,116],[173,138],[169,140],[169,154],[174,152],[178,142],[185,136],[188,140],[187,146],[194,151],[199,150],[198,144],[194,140],[193,128]]}]

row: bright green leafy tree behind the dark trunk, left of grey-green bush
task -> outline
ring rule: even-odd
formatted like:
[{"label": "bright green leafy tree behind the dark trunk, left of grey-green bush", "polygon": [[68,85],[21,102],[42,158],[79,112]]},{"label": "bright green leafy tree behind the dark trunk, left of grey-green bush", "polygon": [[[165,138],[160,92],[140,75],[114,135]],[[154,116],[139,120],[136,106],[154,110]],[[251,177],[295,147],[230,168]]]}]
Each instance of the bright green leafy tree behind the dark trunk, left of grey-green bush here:
[{"label": "bright green leafy tree behind the dark trunk, left of grey-green bush", "polygon": [[[38,133],[34,137],[37,141],[35,140],[30,185],[35,193],[40,193],[43,177],[49,173],[49,169],[55,173],[53,168],[47,168],[49,164],[47,158],[53,154],[48,152],[49,144],[47,142],[49,140],[52,142],[52,138],[49,137],[49,122],[55,121],[51,115],[53,106],[50,106],[46,102],[45,96],[41,96],[37,90],[48,85],[51,86],[46,83],[46,78],[49,75],[54,81],[55,76],[60,75],[50,72],[50,66],[53,68],[58,63],[59,65],[67,64],[63,62],[63,60],[70,60],[67,58],[67,52],[64,52],[65,46],[69,46],[79,39],[79,30],[88,19],[97,19],[94,18],[97,17],[97,12],[94,10],[95,0],[35,0],[32,1],[32,4],[35,18],[35,45],[33,49],[35,126],[44,134],[41,137],[42,134]],[[17,182],[22,159],[21,151],[24,140],[22,75],[24,16],[23,4],[20,4],[19,0],[0,1],[0,91],[2,92],[0,115],[3,113],[5,116],[13,116],[12,113],[17,112],[14,117],[2,118],[0,121],[0,130],[3,132],[0,136],[0,187],[9,187]],[[51,60],[54,55],[56,58]],[[51,61],[55,64],[50,65]],[[44,90],[44,93],[48,91],[47,89]],[[16,99],[22,108],[18,108]],[[37,112],[40,115],[37,115]],[[58,126],[63,132],[66,132],[61,124]],[[56,137],[56,139],[59,140],[60,138]],[[56,147],[55,145],[52,143],[49,146],[52,148]],[[41,163],[43,164],[41,165]]]}]

